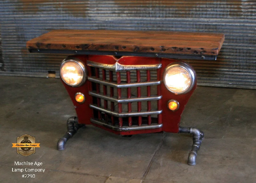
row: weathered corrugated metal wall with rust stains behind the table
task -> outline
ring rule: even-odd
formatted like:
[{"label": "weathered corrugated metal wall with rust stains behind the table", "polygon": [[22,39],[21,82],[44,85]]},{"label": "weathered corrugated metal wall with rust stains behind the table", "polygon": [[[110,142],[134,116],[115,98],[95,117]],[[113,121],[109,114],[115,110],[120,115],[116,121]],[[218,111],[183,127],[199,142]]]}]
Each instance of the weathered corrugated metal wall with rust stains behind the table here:
[{"label": "weathered corrugated metal wall with rust stains behind the table", "polygon": [[256,89],[255,0],[2,0],[4,71],[0,75],[59,75],[65,55],[29,54],[25,43],[52,29],[219,32],[216,61],[191,60],[198,84]]}]

